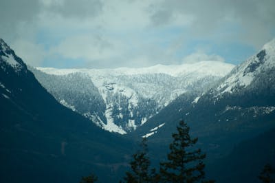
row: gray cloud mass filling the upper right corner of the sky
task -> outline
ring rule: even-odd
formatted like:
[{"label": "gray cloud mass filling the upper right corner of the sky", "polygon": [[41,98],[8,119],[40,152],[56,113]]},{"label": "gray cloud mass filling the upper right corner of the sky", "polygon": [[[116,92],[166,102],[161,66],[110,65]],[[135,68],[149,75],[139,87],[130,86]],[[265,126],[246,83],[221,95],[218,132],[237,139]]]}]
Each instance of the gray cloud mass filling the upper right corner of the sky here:
[{"label": "gray cloud mass filling the upper right corner of the sky", "polygon": [[[244,43],[259,48],[272,38],[275,29],[275,1],[273,0],[166,0],[151,9],[151,21],[155,25],[173,24],[173,19],[167,19],[165,14],[184,14],[193,17],[188,27],[188,35],[207,38],[215,37],[217,30],[228,25],[239,26],[243,30],[223,30],[223,39],[232,39],[239,36]],[[219,39],[221,39],[219,37]],[[227,41],[228,41],[227,40]]]}]

